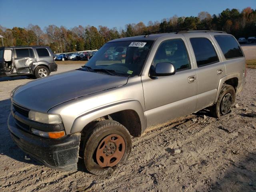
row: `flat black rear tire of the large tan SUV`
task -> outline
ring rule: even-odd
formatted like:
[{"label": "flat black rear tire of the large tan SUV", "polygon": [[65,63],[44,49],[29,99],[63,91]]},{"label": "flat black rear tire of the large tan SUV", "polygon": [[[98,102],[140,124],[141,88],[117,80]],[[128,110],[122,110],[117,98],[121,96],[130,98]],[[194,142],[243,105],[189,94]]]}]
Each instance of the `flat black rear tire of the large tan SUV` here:
[{"label": "flat black rear tire of the large tan SUV", "polygon": [[223,109],[222,109],[222,102],[224,102],[223,99],[224,99],[224,97],[227,97],[227,96],[229,96],[231,99],[231,101],[230,101],[231,106],[228,107],[231,110],[231,108],[234,106],[234,103],[236,100],[236,91],[235,91],[234,87],[231,85],[224,85],[222,87],[216,104],[214,104],[210,108],[210,112],[213,117],[220,118],[220,116],[228,114],[230,112],[230,110],[223,112]]}]

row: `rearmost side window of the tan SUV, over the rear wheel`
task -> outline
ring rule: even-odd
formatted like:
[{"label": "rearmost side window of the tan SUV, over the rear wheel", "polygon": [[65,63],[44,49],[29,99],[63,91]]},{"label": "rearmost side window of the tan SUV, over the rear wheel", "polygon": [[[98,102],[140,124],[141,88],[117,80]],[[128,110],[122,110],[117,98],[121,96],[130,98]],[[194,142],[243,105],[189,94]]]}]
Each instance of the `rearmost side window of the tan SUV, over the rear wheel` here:
[{"label": "rearmost side window of the tan SUV, over the rear wheel", "polygon": [[214,35],[226,59],[243,57],[244,54],[234,37],[229,35]]}]

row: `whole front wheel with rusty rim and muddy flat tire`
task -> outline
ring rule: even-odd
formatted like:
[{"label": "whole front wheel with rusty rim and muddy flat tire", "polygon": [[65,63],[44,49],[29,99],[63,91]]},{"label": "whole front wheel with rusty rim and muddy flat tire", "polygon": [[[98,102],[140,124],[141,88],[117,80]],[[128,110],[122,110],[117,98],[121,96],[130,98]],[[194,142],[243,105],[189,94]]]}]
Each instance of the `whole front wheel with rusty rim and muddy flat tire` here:
[{"label": "whole front wheel with rusty rim and muddy flat tire", "polygon": [[114,120],[103,120],[94,125],[85,143],[84,164],[92,174],[110,175],[128,159],[131,149],[128,130]]}]

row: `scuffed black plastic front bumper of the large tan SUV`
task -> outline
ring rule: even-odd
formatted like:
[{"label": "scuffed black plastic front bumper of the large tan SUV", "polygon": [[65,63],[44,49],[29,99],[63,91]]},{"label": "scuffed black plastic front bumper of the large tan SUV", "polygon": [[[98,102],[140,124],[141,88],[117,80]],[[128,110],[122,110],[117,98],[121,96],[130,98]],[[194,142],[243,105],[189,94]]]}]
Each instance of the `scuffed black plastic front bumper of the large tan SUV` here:
[{"label": "scuffed black plastic front bumper of the large tan SUV", "polygon": [[8,118],[12,140],[21,150],[45,166],[58,170],[76,170],[81,134],[60,139],[42,138],[21,130],[12,114]]}]

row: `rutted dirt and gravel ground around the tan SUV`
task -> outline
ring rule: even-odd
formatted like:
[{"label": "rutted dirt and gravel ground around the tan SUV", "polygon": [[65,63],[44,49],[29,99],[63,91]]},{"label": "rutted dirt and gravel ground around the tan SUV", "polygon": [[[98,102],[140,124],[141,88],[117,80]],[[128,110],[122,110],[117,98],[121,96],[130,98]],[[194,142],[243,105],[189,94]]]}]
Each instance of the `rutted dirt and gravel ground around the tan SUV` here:
[{"label": "rutted dirt and gravel ground around the tan SUV", "polygon": [[[59,65],[58,72],[80,65]],[[128,162],[109,177],[86,172],[82,159],[77,171],[61,172],[26,158],[6,122],[11,90],[32,79],[1,78],[0,191],[256,191],[256,118],[246,116],[256,111],[255,76],[256,70],[247,70],[238,108],[227,117],[202,110],[132,138]],[[172,155],[172,148],[180,153]]]}]

